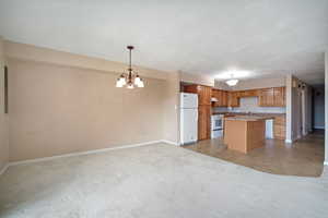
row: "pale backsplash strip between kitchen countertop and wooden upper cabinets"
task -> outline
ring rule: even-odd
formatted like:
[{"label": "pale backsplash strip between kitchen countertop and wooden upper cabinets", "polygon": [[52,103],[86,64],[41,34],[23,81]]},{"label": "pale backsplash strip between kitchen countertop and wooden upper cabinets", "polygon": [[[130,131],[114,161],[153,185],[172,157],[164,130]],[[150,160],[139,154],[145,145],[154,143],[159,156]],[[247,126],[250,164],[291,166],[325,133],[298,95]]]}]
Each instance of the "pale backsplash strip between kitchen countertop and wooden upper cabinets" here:
[{"label": "pale backsplash strip between kitchen countertop and wooden upper cabinets", "polygon": [[260,113],[285,113],[285,107],[259,107],[257,97],[241,98],[241,107],[216,107],[214,112],[260,112]]}]

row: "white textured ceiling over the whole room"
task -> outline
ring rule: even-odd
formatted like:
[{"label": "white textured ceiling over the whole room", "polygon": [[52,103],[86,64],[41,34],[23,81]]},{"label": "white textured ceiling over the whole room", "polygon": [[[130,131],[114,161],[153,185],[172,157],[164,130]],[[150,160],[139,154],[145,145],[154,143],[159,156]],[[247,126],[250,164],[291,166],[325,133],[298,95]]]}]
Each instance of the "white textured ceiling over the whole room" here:
[{"label": "white textured ceiling over the whole room", "polygon": [[120,62],[134,45],[133,63],[159,70],[318,84],[328,0],[0,0],[0,35]]}]

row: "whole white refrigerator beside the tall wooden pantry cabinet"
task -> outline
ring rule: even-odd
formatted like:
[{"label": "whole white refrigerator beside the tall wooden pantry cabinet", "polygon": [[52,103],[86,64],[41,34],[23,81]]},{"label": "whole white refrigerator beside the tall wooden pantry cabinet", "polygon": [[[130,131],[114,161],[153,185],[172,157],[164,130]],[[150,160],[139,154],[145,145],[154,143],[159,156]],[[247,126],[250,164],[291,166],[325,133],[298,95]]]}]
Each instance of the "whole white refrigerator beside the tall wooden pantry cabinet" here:
[{"label": "whole white refrigerator beside the tall wooden pantry cabinet", "polygon": [[180,144],[197,142],[198,95],[180,93]]}]

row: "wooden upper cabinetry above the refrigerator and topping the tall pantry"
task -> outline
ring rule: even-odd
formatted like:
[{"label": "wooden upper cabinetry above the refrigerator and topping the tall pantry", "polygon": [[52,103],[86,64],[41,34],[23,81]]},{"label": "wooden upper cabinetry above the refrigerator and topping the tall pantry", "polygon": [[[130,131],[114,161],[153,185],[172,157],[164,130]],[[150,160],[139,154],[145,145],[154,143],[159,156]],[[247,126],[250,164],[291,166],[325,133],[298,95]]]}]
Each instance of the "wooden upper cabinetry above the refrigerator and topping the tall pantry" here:
[{"label": "wooden upper cabinetry above the refrigerator and topping the tall pantry", "polygon": [[184,90],[186,93],[198,94],[198,105],[210,106],[212,97],[212,88],[203,85],[187,85]]}]

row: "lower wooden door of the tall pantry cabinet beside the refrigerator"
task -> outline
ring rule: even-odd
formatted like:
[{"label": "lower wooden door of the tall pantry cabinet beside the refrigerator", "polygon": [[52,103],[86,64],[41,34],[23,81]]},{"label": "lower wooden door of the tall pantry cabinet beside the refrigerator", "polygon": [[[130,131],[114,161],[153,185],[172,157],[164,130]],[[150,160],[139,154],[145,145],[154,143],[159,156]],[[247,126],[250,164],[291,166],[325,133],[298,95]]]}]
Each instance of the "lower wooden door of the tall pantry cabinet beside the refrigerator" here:
[{"label": "lower wooden door of the tall pantry cabinet beside the refrigerator", "polygon": [[211,106],[198,107],[198,140],[211,138]]}]

